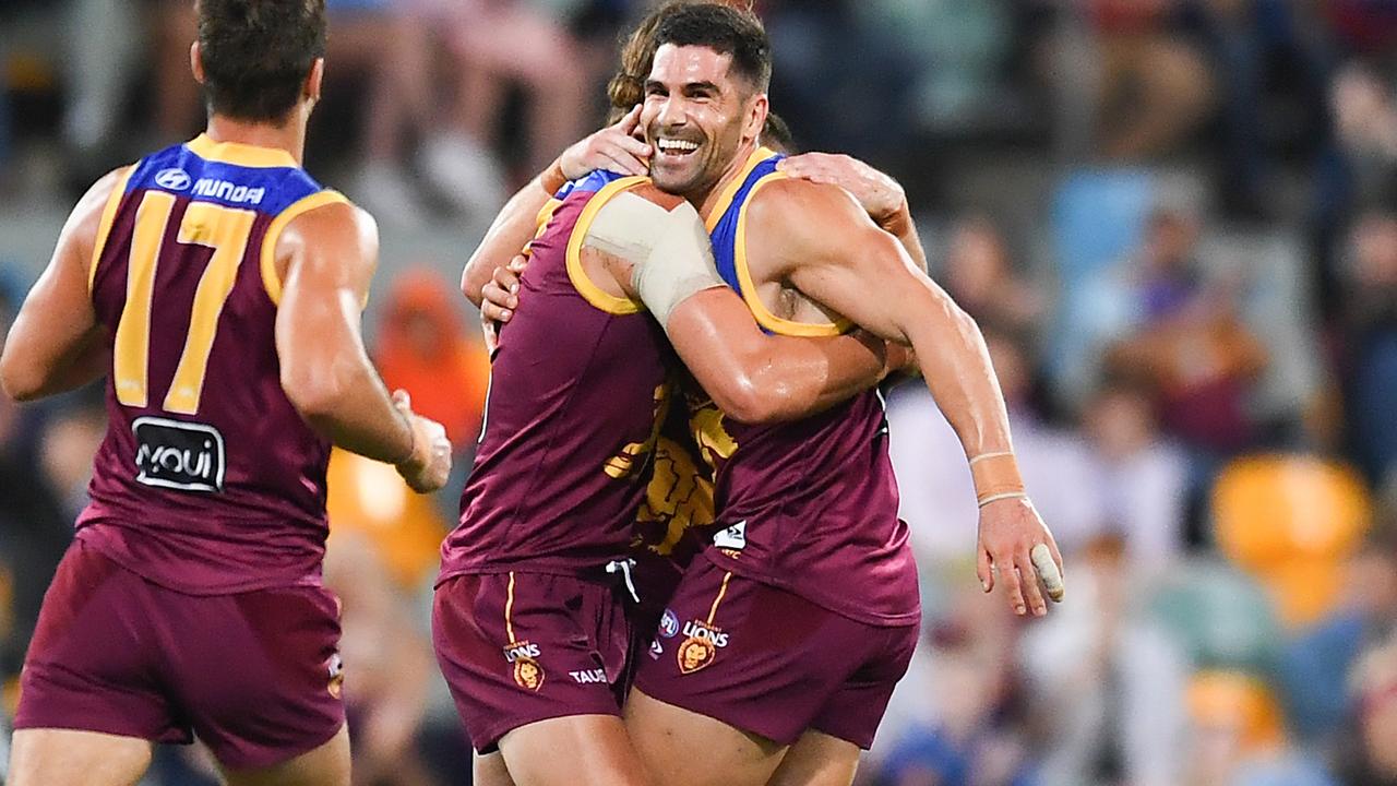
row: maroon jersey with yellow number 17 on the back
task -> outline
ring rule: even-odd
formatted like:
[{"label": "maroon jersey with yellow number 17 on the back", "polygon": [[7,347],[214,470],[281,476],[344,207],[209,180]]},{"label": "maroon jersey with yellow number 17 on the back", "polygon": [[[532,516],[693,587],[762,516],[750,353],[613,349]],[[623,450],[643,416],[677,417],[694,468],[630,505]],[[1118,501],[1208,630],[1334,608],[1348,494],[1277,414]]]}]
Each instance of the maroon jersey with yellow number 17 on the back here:
[{"label": "maroon jersey with yellow number 17 on the back", "polygon": [[274,253],[334,201],[288,152],[204,136],[117,186],[91,271],[109,425],[78,537],[180,592],[319,582],[330,445],[281,387]]}]

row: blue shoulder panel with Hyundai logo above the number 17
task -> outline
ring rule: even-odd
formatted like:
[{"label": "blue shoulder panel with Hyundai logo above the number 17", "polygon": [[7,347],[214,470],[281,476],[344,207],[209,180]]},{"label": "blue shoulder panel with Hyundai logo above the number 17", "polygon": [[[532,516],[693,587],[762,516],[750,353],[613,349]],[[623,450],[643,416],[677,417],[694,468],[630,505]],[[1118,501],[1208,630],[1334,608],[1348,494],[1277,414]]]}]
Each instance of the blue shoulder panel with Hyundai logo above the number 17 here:
[{"label": "blue shoulder panel with Hyundai logo above the number 17", "polygon": [[239,166],[208,161],[182,144],[142,158],[126,182],[127,193],[137,189],[161,190],[270,215],[323,190],[305,169],[296,166]]}]

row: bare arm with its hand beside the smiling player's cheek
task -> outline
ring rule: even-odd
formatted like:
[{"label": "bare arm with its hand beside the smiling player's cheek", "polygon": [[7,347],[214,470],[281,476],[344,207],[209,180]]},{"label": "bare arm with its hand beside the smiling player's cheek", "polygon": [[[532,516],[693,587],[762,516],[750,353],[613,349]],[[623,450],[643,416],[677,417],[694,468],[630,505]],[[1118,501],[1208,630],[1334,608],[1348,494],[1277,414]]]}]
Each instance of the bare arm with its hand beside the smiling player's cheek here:
[{"label": "bare arm with its hand beside the smiling player's cheek", "polygon": [[461,292],[476,308],[481,308],[482,302],[481,290],[495,269],[503,267],[529,242],[538,229],[539,211],[564,183],[594,169],[609,169],[619,175],[647,172],[650,145],[631,136],[638,119],[637,106],[615,124],[573,144],[548,171],[541,172],[504,203],[461,271]]}]

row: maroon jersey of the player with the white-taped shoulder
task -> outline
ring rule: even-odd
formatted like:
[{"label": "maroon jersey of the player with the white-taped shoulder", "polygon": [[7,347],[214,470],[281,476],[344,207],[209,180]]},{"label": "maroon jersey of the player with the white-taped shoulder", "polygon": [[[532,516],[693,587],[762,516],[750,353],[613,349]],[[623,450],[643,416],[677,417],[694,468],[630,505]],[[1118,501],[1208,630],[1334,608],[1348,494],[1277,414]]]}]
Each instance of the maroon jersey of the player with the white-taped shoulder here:
[{"label": "maroon jersey of the player with the white-taped shoulder", "polygon": [[577,575],[629,555],[671,396],[664,331],[581,269],[587,224],[640,178],[592,173],[560,194],[531,243],[500,331],[461,522],[441,547],[460,573]]}]

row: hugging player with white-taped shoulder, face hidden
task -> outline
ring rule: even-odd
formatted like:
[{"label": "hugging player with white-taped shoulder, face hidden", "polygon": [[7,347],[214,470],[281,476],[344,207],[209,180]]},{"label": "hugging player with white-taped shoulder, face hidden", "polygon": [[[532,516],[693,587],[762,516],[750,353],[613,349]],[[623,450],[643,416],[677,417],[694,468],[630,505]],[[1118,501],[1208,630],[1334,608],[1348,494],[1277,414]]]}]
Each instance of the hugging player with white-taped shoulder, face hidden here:
[{"label": "hugging player with white-taped shoulder, face hidden", "polygon": [[659,428],[685,406],[672,354],[732,417],[764,422],[870,387],[884,347],[764,336],[694,207],[644,178],[569,185],[531,253],[534,306],[499,337],[443,545],[437,659],[483,754],[478,782],[647,783],[620,708],[633,526]]}]

